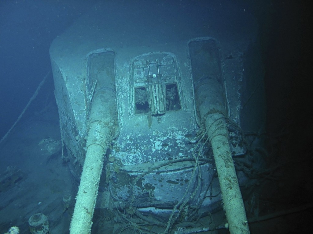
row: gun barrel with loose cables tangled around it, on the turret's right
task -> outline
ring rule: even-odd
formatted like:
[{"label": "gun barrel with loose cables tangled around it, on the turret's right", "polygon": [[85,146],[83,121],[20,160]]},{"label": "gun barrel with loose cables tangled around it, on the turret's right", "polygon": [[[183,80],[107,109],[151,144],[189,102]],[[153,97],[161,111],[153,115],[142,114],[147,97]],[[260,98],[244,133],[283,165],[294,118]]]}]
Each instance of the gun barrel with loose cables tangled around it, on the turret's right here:
[{"label": "gun barrel with loose cables tangled around it, on the turret's right", "polygon": [[249,234],[244,202],[233,163],[226,125],[223,85],[216,77],[194,80],[195,100],[213,149],[223,208],[231,234]]}]

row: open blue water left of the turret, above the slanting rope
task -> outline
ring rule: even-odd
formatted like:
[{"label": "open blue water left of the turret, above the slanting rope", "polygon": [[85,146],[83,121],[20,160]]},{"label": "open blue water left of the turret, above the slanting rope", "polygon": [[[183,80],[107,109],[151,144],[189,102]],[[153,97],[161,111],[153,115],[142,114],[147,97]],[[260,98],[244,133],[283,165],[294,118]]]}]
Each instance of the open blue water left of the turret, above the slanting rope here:
[{"label": "open blue water left of the turret, above the slanting rope", "polygon": [[[1,138],[50,70],[50,43],[94,3],[74,0],[0,2]],[[52,80],[51,75],[49,79]],[[53,90],[51,82],[49,85]]]}]

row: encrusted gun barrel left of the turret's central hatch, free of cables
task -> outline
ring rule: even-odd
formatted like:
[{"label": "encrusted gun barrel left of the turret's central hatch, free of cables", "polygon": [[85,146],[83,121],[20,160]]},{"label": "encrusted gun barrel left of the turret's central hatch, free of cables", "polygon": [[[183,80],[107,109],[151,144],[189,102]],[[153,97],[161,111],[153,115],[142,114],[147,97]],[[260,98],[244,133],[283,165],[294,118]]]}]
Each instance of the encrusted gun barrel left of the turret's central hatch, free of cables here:
[{"label": "encrusted gun barrel left of the turret's central hatch, free of cables", "polygon": [[88,119],[87,152],[70,224],[70,234],[88,234],[91,232],[100,176],[106,160],[104,155],[117,131],[114,76],[96,77],[96,80],[97,89],[94,93]]}]

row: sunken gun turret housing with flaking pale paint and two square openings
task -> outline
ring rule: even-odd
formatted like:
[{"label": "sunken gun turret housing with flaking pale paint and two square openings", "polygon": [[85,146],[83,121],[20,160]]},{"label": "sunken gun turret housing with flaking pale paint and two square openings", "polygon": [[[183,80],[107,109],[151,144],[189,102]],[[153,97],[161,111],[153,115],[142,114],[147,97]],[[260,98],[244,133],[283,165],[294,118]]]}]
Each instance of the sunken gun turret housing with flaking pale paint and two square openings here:
[{"label": "sunken gun turret housing with flaking pale paint and two square openings", "polygon": [[[95,233],[101,222],[118,222],[119,212],[170,223],[175,214],[190,221],[221,209],[207,116],[214,112],[227,120],[232,157],[243,161],[249,158],[242,133],[264,130],[263,67],[254,18],[241,16],[249,24],[236,30],[229,15],[208,14],[199,19],[212,28],[194,30],[197,18],[159,25],[149,13],[136,14],[145,3],[136,4],[122,17],[111,13],[118,5],[98,4],[50,47],[63,157],[81,193],[87,193],[81,174],[89,147],[103,151],[95,160],[99,172],[91,189],[97,202],[85,208],[91,219],[95,214]],[[223,11],[240,10],[228,7]],[[169,26],[175,23],[183,31],[179,39]],[[203,114],[206,102],[211,107]],[[104,139],[92,124],[105,126],[109,136]],[[263,144],[259,138],[248,141]],[[237,176],[244,185],[244,173]]]}]

